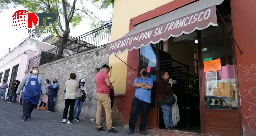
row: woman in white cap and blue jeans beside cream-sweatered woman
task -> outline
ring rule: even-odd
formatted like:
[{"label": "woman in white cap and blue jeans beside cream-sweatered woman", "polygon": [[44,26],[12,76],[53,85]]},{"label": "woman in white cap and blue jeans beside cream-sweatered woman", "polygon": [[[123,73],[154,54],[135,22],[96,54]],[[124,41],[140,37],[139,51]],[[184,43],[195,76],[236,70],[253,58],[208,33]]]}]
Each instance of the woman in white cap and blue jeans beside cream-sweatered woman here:
[{"label": "woman in white cap and blue jeans beside cream-sweatered woman", "polygon": [[[87,90],[86,90],[86,87],[84,86],[85,84],[85,79],[81,79],[79,81],[79,91],[81,92],[81,95],[85,95],[86,96],[86,93],[87,93]],[[82,109],[82,106],[83,106],[83,103],[84,103],[85,99],[84,98],[76,98],[76,101],[75,101],[75,107],[74,107],[74,113],[73,113],[73,119],[75,117],[75,112],[76,112],[76,109],[78,107],[78,110],[77,110],[77,114],[76,114],[76,118],[75,118],[75,121],[80,121],[79,120],[79,115],[80,115],[80,112],[81,112],[81,109]]]}]

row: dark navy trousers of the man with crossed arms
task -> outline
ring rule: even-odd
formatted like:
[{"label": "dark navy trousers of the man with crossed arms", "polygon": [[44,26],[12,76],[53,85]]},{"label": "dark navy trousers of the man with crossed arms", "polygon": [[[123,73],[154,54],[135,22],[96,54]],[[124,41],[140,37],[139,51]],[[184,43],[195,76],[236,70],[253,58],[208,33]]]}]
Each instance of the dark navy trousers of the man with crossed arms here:
[{"label": "dark navy trousers of the man with crossed arms", "polygon": [[145,131],[146,124],[147,124],[147,111],[149,106],[150,106],[150,103],[141,101],[138,98],[134,97],[131,104],[131,113],[130,113],[130,122],[129,122],[130,130],[134,131],[135,122],[139,114],[139,111],[141,109],[140,131]]}]

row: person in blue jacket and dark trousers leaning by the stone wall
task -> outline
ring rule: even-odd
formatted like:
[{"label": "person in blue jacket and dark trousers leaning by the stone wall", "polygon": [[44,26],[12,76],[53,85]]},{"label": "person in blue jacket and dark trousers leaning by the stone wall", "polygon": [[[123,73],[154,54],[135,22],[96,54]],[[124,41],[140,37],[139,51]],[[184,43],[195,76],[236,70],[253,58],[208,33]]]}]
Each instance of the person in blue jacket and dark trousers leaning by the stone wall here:
[{"label": "person in blue jacket and dark trousers leaning by the stone wall", "polygon": [[57,95],[58,88],[59,84],[57,83],[57,79],[54,78],[51,86],[48,86],[48,110],[45,110],[46,112],[53,112],[53,101],[54,97]]}]

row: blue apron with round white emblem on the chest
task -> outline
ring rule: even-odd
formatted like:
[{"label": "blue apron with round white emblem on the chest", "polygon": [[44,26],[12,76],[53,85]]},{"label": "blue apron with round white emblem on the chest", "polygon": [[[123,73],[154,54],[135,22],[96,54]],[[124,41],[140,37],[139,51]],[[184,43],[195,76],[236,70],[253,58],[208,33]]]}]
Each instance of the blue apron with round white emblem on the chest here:
[{"label": "blue apron with round white emblem on the chest", "polygon": [[[32,75],[32,74],[31,74]],[[25,103],[31,102],[32,104],[38,104],[40,98],[41,87],[38,82],[38,75],[36,78],[29,77],[28,83],[25,86],[24,101]]]}]

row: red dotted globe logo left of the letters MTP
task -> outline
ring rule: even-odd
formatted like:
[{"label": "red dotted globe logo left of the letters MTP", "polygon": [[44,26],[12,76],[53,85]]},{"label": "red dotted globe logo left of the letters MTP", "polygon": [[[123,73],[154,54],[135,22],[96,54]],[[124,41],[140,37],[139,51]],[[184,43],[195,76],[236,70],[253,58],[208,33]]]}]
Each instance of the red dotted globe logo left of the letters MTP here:
[{"label": "red dotted globe logo left of the letters MTP", "polygon": [[16,30],[25,30],[27,29],[27,16],[26,10],[18,10],[12,15],[12,26]]}]

